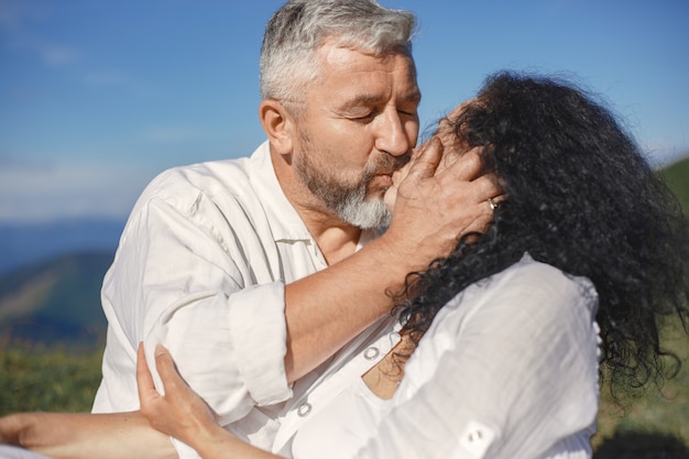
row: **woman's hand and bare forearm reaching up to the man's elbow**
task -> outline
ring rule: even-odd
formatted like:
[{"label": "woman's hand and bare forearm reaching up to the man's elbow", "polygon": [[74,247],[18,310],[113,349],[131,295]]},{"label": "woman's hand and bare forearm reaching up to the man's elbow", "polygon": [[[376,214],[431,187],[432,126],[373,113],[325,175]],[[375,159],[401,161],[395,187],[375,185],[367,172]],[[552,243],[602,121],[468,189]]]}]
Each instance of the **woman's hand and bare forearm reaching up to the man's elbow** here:
[{"label": "woman's hand and bare forearm reaching up to the man's elbow", "polygon": [[165,347],[155,348],[155,365],[165,394],[155,390],[153,378],[139,345],[136,382],[141,400],[141,413],[155,429],[189,445],[204,459],[275,459],[225,430],[216,422],[211,409],[184,382]]}]

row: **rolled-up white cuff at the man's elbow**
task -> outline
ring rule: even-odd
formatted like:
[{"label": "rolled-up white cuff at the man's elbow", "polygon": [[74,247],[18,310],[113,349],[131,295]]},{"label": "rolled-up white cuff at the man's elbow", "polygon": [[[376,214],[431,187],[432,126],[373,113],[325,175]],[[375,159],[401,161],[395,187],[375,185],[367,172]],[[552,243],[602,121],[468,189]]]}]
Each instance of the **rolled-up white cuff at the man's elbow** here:
[{"label": "rolled-up white cuff at the man's elbow", "polygon": [[258,405],[289,398],[285,285],[273,282],[236,292],[229,298],[229,320],[237,368],[251,397]]}]

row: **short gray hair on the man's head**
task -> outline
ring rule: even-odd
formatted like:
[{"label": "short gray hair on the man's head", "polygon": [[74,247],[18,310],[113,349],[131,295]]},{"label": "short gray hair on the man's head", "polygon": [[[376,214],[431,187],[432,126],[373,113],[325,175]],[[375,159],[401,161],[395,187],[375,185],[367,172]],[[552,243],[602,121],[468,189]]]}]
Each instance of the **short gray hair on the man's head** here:
[{"label": "short gray hair on the man's head", "polygon": [[298,105],[318,75],[315,54],[326,41],[373,55],[411,55],[415,28],[412,12],[391,10],[374,0],[287,1],[265,26],[261,99]]}]

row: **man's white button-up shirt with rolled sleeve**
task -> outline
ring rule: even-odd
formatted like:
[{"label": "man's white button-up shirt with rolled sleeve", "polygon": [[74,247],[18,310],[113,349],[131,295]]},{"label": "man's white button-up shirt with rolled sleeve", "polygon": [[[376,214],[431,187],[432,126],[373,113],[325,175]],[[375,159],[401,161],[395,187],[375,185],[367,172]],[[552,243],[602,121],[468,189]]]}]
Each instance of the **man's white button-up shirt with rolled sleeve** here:
[{"label": "man's white button-up shirt with rolled sleeve", "polygon": [[[360,247],[374,236],[362,234]],[[284,285],[326,266],[280,187],[267,142],[250,159],[161,174],[135,204],[106,274],[108,338],[92,411],[138,409],[136,347],[144,341],[152,363],[164,343],[221,425],[270,448],[293,394]]]}]

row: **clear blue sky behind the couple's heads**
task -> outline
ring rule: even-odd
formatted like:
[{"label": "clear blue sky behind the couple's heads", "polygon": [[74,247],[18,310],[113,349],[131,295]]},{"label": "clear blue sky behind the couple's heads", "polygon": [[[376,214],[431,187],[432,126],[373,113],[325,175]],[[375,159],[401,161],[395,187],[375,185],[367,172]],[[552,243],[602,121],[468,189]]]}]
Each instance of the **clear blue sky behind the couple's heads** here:
[{"label": "clear blue sky behind the couple's heads", "polygon": [[[531,70],[604,96],[652,163],[689,154],[689,1],[382,3],[419,19],[422,124],[491,72]],[[0,223],[124,219],[158,172],[250,154],[280,4],[0,0]]]}]

